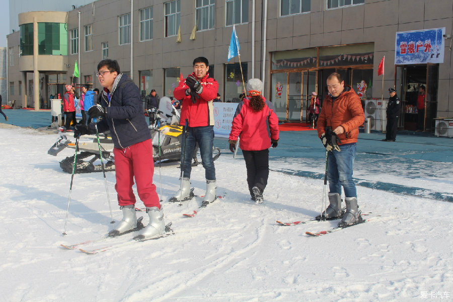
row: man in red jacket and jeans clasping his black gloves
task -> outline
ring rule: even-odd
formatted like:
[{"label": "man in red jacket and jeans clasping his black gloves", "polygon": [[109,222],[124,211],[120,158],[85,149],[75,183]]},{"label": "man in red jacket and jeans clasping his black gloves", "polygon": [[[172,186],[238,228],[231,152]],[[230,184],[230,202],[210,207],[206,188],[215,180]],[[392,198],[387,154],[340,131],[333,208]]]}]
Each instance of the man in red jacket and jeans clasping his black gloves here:
[{"label": "man in red jacket and jeans clasping his black gloves", "polygon": [[[181,143],[181,174],[182,186],[171,201],[190,198],[191,161],[196,144],[200,147],[201,161],[205,169],[206,194],[202,204],[214,201],[216,197],[215,167],[212,160],[214,144],[214,106],[213,99],[217,96],[218,84],[208,78],[209,62],[205,57],[193,60],[193,72],[186,79],[181,79],[173,96],[181,100],[180,124],[184,126]],[[187,125],[186,125],[187,121]]]}]

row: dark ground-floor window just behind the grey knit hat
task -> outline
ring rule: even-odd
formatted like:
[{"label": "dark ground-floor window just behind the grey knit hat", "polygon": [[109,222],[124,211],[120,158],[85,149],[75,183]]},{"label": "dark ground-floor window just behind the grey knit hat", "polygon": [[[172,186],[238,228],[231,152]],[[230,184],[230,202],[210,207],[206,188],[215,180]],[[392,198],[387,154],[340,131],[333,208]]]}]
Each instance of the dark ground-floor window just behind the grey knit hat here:
[{"label": "dark ground-floor window just behind the grey knit hat", "polygon": [[[209,68],[210,71],[210,68]],[[244,81],[247,81],[247,63],[242,63],[242,71],[244,72]],[[245,82],[247,86],[247,82]],[[242,84],[241,66],[239,63],[225,64],[225,102],[239,103],[239,95],[244,93],[244,85]]]}]

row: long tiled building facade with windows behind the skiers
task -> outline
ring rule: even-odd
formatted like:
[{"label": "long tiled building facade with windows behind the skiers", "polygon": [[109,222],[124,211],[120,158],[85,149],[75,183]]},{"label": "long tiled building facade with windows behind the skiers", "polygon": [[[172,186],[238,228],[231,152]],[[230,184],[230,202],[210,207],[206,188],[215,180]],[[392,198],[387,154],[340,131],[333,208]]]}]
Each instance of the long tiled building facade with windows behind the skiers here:
[{"label": "long tiled building facade with windows behind the skiers", "polygon": [[[96,66],[104,58],[118,60],[143,96],[151,89],[173,96],[180,74],[186,77],[192,60],[205,56],[223,101],[239,100],[242,67],[245,81],[264,80],[264,95],[280,120],[306,120],[311,93],[323,100],[327,75],[334,71],[361,96],[374,129],[385,125],[381,99],[388,99],[390,87],[403,101],[401,128],[415,130],[414,98],[421,85],[426,87],[425,128],[434,131],[435,118],[453,117],[453,0],[98,0],[65,14],[64,21],[52,12],[20,14],[20,33],[8,36],[9,53],[22,51],[15,56],[18,64],[9,66],[8,81],[29,94],[21,95],[23,105],[37,103],[33,93],[45,108],[50,96],[63,92],[63,84],[100,88]],[[33,15],[42,19],[32,31]],[[228,61],[233,25],[240,56]],[[50,53],[48,45],[56,40],[48,43],[46,33],[51,29],[54,37],[57,27],[59,52]],[[428,29],[443,29],[442,62],[395,64],[397,33]],[[39,45],[31,52],[35,32]],[[378,75],[384,56],[384,74]],[[73,79],[76,60],[80,77]],[[39,89],[30,89],[34,79]],[[9,97],[18,98],[11,92]]]}]

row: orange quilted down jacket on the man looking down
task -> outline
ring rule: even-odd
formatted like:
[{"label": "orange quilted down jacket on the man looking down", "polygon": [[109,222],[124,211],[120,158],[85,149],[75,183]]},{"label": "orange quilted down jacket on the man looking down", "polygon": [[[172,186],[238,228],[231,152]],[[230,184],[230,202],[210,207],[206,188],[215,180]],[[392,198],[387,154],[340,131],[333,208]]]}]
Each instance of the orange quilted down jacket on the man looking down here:
[{"label": "orange quilted down jacket on the man looking down", "polygon": [[332,101],[331,95],[326,97],[318,119],[318,136],[326,132],[328,126],[332,127],[332,130],[342,126],[344,133],[337,135],[341,144],[357,142],[358,127],[364,120],[359,96],[350,86],[345,85],[335,101]]}]

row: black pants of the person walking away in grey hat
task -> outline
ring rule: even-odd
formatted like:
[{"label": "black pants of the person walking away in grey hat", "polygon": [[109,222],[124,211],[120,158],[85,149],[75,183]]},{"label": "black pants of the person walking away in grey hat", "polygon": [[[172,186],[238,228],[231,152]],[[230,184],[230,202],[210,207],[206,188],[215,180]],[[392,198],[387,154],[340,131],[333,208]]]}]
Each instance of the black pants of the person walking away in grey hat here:
[{"label": "black pants of the person walking away in grey hat", "polygon": [[249,185],[250,194],[252,188],[258,187],[261,192],[264,191],[269,178],[269,149],[260,151],[242,150],[247,168],[247,184]]}]

